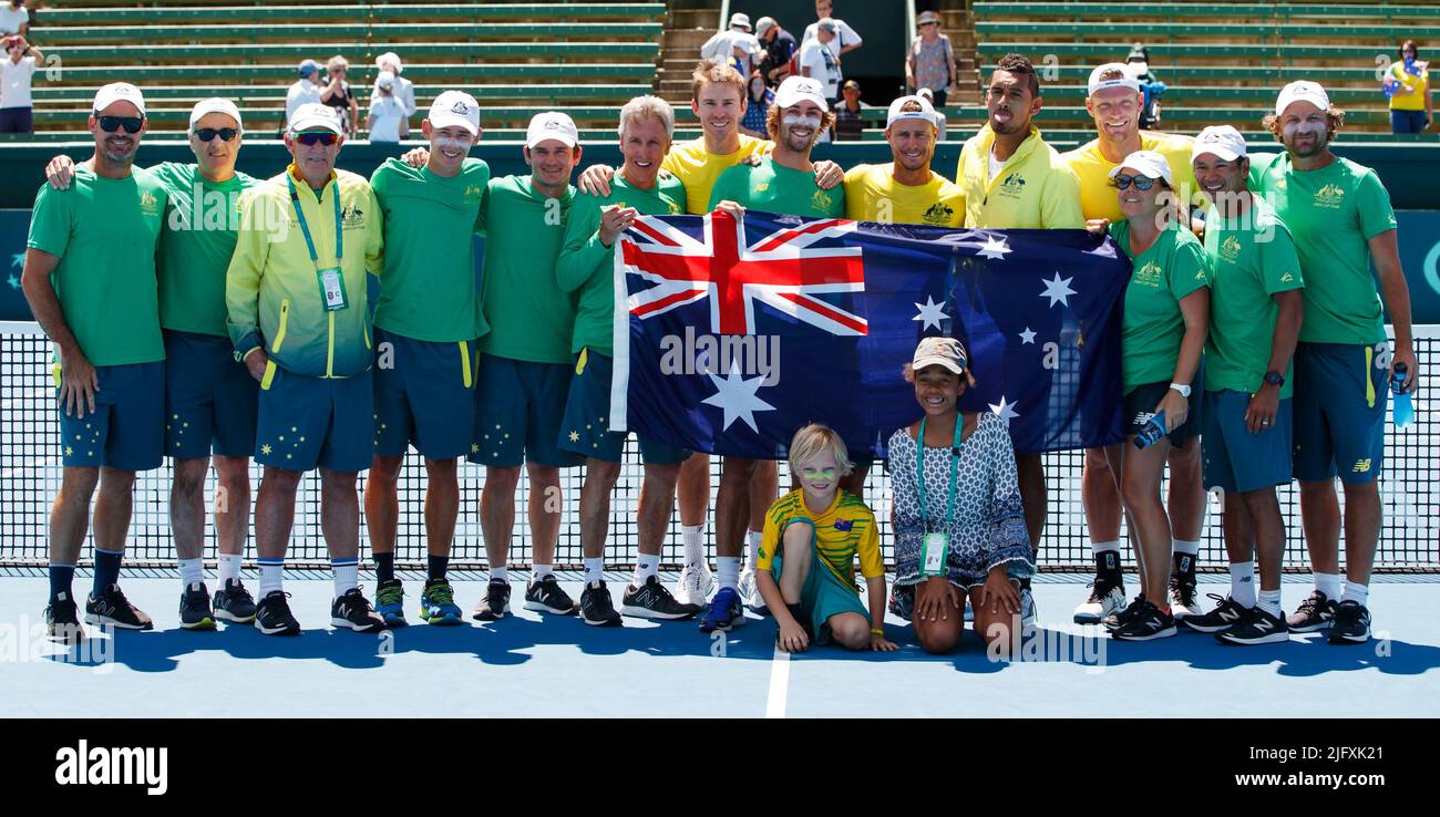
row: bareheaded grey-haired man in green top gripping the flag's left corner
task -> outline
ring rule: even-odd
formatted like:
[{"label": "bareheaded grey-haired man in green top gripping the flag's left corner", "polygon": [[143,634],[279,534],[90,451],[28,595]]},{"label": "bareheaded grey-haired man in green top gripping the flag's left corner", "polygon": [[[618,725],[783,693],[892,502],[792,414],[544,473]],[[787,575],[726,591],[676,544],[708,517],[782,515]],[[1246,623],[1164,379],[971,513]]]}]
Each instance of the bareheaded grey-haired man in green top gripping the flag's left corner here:
[{"label": "bareheaded grey-haired man in green top gripping the flag's left corner", "polygon": [[[611,518],[611,493],[621,473],[625,433],[611,432],[611,375],[613,371],[612,327],[615,319],[615,242],[638,216],[685,211],[685,187],[674,175],[660,177],[660,163],[670,151],[675,114],[655,96],[636,96],[621,108],[621,155],[625,164],[611,180],[606,196],[577,194],[564,227],[564,243],[556,265],[556,279],[566,292],[579,293],[572,351],[575,375],[560,424],[560,449],[586,457],[580,488],[580,545],[585,552],[585,590],[580,620],[605,627],[619,626],[611,593],[605,587],[605,537]],[[635,578],[625,588],[622,610],[642,619],[690,619],[697,604],[681,604],[661,584],[657,570],[670,526],[680,463],[690,452],[639,437],[645,463],[645,485],[639,503],[639,558]]]}]

